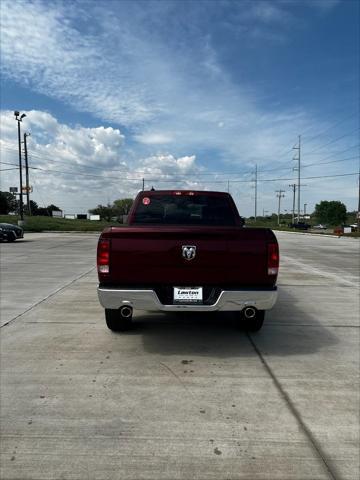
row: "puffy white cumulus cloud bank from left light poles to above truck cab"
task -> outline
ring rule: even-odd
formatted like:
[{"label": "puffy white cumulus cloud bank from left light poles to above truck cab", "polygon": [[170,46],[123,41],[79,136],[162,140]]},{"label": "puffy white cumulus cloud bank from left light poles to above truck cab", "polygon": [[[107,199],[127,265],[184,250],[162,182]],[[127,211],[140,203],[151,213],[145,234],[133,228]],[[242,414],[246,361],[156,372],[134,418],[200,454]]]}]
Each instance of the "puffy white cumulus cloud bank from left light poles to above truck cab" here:
[{"label": "puffy white cumulus cloud bank from left light poles to above truck cab", "polygon": [[[53,203],[68,213],[80,213],[100,203],[134,196],[144,177],[148,182],[162,180],[171,184],[176,175],[200,170],[194,155],[159,153],[130,162],[119,129],[70,127],[37,110],[26,111],[26,115],[21,127],[22,133],[31,132],[28,152],[32,199],[40,205]],[[1,189],[8,190],[19,183],[18,170],[4,170],[18,165],[13,112],[2,111],[0,125]],[[181,184],[190,185],[186,178]]]}]

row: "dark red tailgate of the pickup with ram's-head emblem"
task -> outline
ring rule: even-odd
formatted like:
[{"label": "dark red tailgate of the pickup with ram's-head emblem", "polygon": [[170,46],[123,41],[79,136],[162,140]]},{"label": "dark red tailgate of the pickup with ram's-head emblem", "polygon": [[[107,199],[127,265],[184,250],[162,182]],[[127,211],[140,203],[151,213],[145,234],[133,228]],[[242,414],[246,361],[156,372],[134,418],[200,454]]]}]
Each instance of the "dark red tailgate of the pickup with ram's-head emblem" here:
[{"label": "dark red tailgate of the pickup with ram's-head emblem", "polygon": [[[211,231],[210,231],[211,230]],[[267,229],[241,227],[112,228],[109,238],[111,285],[222,285],[264,287],[274,284],[267,274],[267,245],[276,239]],[[186,260],[183,246],[195,246]]]}]

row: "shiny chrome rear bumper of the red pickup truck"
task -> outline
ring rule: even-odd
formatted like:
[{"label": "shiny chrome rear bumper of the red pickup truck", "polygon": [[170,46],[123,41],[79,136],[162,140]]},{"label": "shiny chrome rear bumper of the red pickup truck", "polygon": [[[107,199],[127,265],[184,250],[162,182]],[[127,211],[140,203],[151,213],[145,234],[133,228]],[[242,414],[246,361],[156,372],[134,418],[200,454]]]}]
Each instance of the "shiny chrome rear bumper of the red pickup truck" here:
[{"label": "shiny chrome rear bumper of the red pickup truck", "polygon": [[164,312],[237,311],[245,307],[269,310],[275,305],[277,290],[223,290],[213,305],[163,305],[154,290],[121,290],[98,287],[98,296],[104,308],[118,309],[124,305],[137,310]]}]

